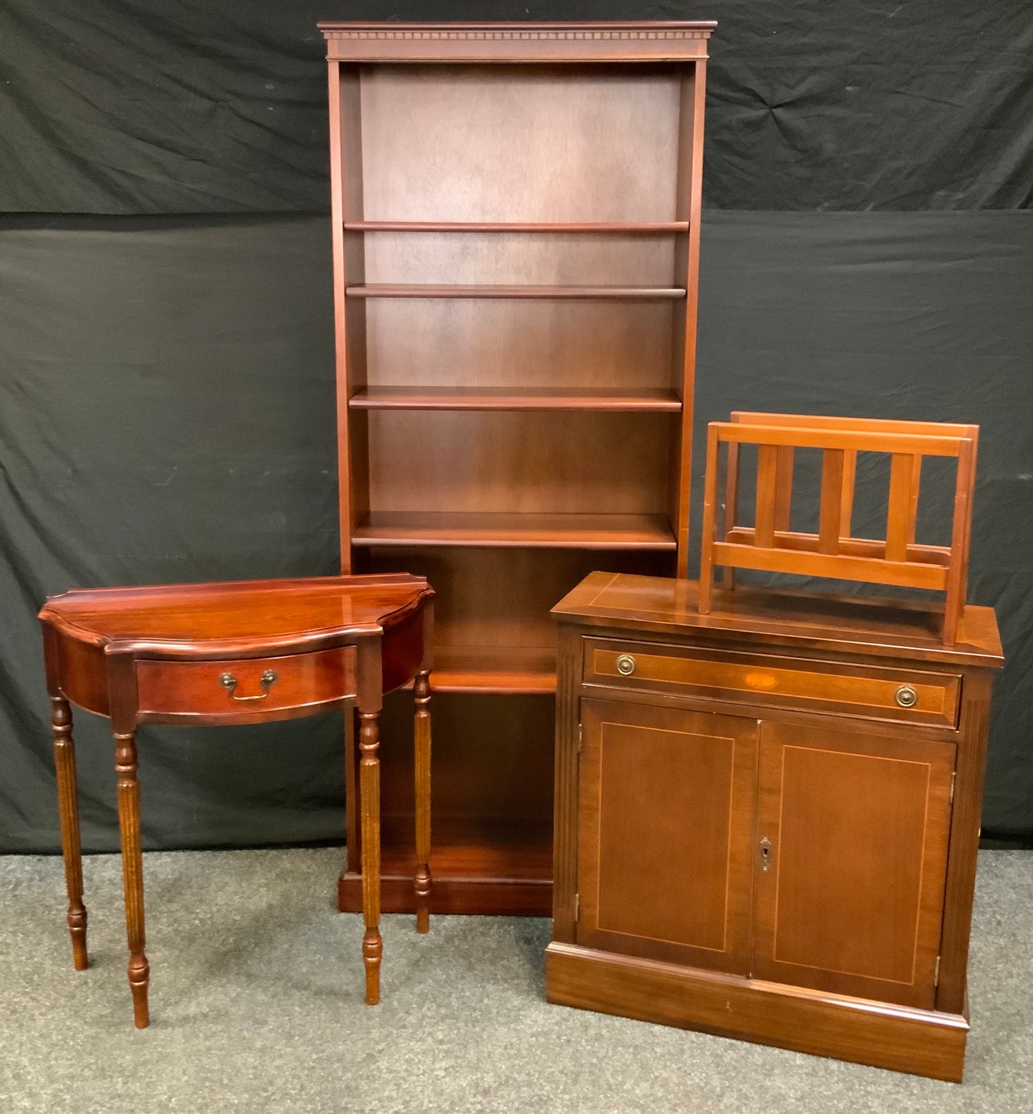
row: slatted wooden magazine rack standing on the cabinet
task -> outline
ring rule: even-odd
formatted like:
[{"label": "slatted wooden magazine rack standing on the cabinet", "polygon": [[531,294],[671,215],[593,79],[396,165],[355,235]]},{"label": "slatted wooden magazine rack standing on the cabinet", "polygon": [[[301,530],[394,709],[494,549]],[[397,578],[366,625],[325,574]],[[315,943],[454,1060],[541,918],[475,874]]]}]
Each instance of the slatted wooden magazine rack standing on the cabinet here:
[{"label": "slatted wooden magazine rack standing on the cabinet", "polygon": [[[965,607],[977,426],[737,412],[711,422],[707,440],[699,610],[710,610],[714,566],[864,580],[946,593],[943,641],[953,646]],[[717,538],[720,446],[727,446],[721,537]],[[757,446],[756,517],[737,525],[739,447]],[[823,451],[817,534],[789,526],[796,449]],[[892,455],[885,539],[855,538],[850,520],[858,452]],[[950,546],[915,541],[923,457],[957,460]],[[731,584],[729,577],[728,582]]]}]

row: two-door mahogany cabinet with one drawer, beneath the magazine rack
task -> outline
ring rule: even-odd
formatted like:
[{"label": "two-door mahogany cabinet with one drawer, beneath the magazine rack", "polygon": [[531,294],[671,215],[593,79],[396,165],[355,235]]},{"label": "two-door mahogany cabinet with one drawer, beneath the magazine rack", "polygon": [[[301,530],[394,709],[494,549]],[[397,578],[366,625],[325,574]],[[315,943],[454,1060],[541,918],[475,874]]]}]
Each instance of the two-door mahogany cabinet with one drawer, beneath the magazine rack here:
[{"label": "two-door mahogany cabinet with one drawer, beneath the magazine rack", "polygon": [[993,612],[697,596],[554,609],[549,999],[961,1079]]}]

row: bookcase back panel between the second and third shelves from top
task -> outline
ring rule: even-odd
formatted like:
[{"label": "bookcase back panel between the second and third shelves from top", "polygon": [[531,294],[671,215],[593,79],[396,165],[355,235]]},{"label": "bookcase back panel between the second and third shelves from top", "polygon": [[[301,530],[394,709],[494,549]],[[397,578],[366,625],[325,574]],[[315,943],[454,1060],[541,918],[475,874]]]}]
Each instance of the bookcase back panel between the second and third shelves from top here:
[{"label": "bookcase back panel between the second and third shelves from top", "polygon": [[669,387],[672,305],[680,303],[370,300],[366,382]]}]

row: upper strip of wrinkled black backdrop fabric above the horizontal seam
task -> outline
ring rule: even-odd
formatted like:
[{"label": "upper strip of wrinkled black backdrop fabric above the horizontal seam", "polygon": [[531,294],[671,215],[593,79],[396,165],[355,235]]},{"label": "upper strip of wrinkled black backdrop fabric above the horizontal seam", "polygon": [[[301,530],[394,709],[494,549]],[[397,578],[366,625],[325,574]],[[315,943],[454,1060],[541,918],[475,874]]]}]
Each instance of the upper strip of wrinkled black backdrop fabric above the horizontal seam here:
[{"label": "upper strip of wrinkled black backdrop fabric above the horizontal seam", "polygon": [[717,19],[705,202],[1033,202],[1026,0],[6,0],[0,209],[326,211],[318,19]]}]

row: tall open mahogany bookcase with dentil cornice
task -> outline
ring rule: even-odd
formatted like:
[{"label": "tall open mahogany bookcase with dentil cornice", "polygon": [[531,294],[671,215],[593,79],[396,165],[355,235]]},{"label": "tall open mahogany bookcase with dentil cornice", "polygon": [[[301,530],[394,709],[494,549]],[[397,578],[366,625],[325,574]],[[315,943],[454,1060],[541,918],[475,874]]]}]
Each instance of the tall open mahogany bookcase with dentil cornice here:
[{"label": "tall open mahogany bookcase with dentil cornice", "polygon": [[[319,25],[342,568],[437,592],[433,908],[548,916],[555,632],[685,575],[710,22]],[[383,903],[412,907],[385,707]],[[347,741],[348,867],[361,908]]]}]

